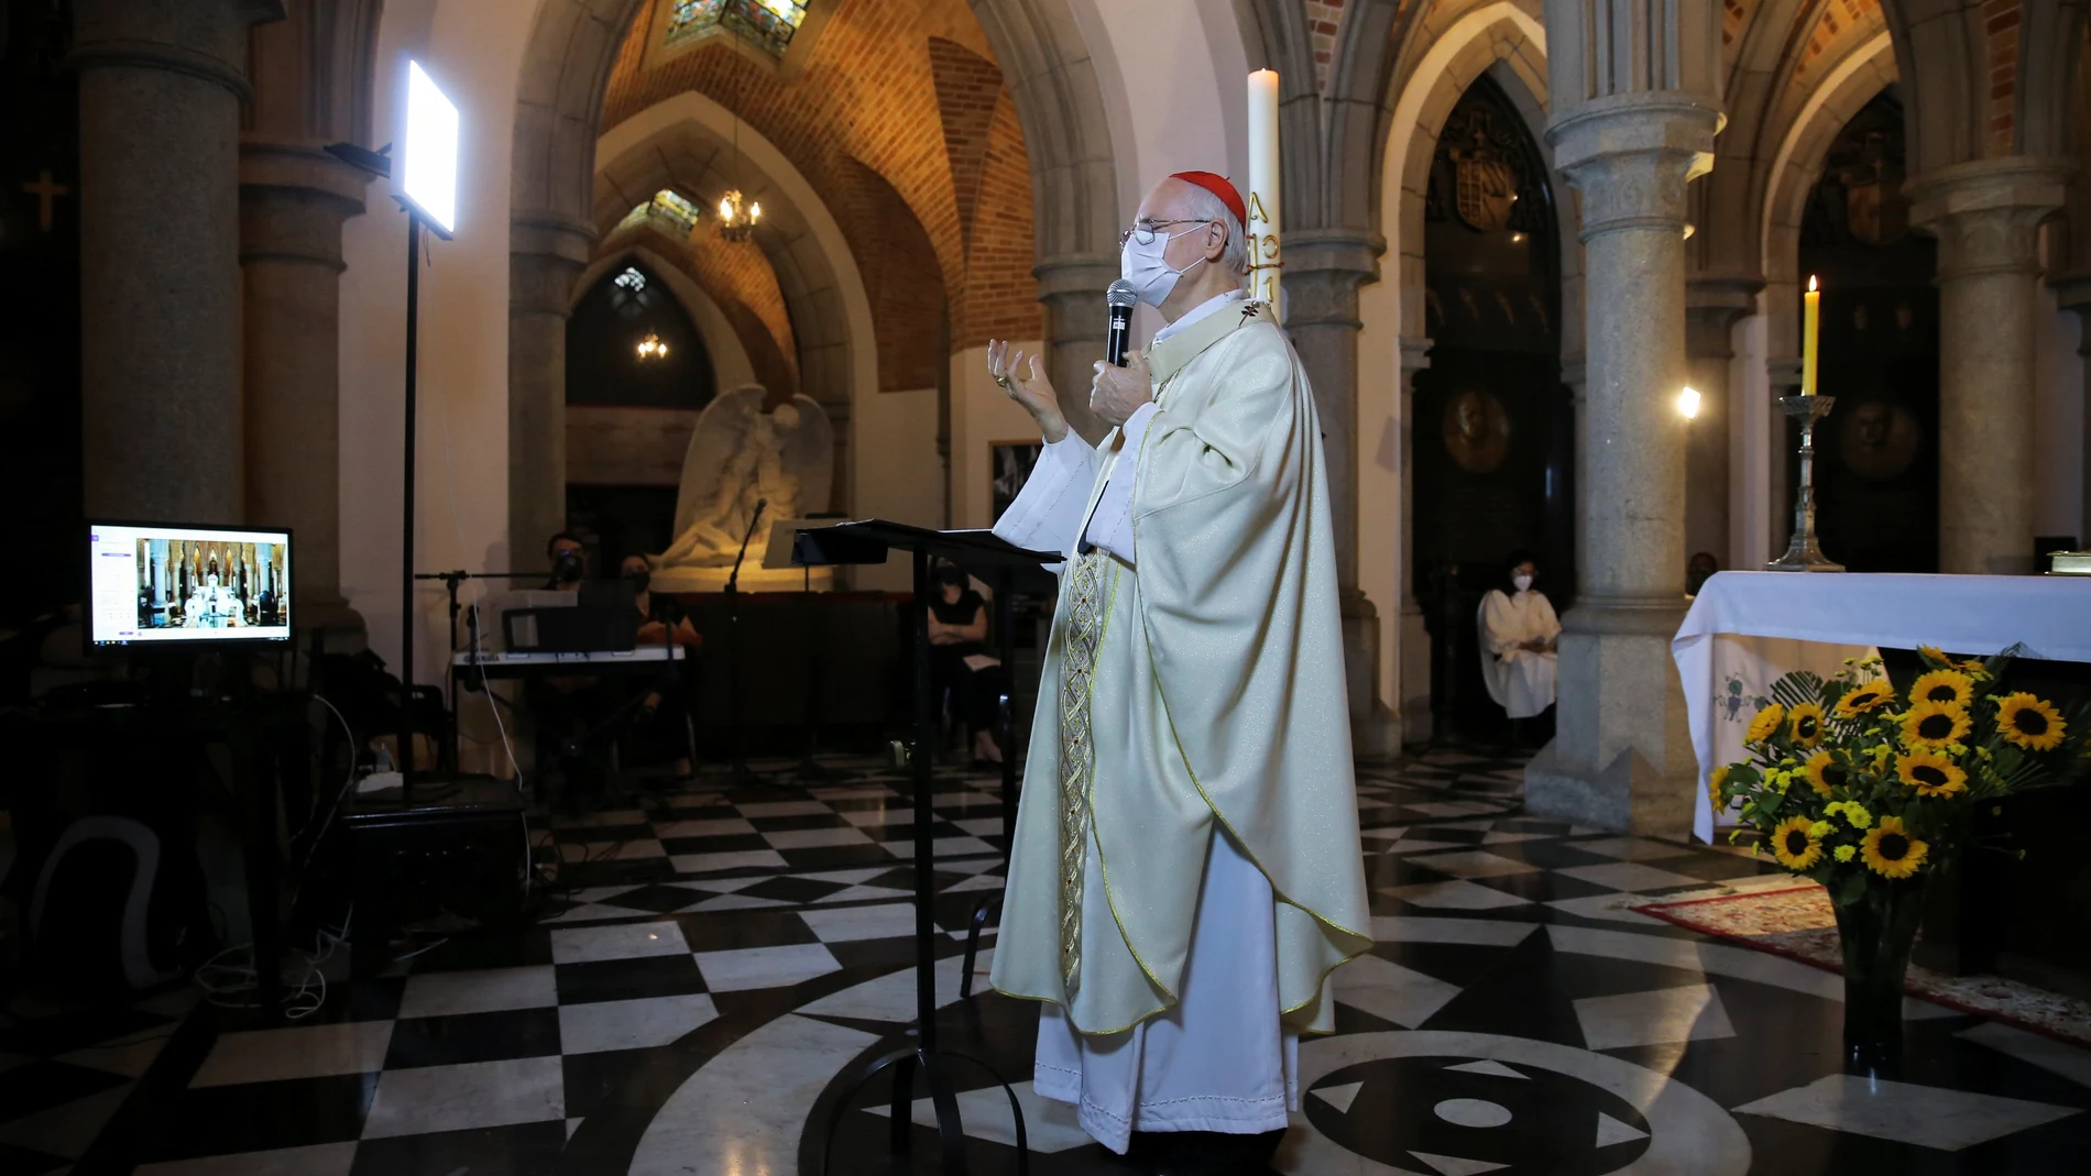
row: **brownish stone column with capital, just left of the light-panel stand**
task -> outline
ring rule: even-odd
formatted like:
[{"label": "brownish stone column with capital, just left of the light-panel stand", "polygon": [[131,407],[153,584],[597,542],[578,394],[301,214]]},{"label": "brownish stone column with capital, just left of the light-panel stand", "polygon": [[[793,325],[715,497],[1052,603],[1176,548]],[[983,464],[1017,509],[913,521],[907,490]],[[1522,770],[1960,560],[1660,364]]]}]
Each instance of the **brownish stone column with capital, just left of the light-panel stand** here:
[{"label": "brownish stone column with capital, just left of the light-panel stand", "polygon": [[247,520],[297,535],[299,629],[364,627],[341,595],[341,226],[368,182],[312,144],[240,144]]}]

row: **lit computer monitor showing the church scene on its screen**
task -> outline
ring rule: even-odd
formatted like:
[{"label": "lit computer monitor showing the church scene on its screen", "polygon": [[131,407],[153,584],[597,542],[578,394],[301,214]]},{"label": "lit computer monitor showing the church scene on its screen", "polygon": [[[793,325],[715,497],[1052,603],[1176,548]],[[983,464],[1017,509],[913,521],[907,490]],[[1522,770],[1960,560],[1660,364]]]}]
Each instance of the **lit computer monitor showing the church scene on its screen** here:
[{"label": "lit computer monitor showing the church scene on its screen", "polygon": [[88,522],[88,648],[291,639],[291,533]]}]

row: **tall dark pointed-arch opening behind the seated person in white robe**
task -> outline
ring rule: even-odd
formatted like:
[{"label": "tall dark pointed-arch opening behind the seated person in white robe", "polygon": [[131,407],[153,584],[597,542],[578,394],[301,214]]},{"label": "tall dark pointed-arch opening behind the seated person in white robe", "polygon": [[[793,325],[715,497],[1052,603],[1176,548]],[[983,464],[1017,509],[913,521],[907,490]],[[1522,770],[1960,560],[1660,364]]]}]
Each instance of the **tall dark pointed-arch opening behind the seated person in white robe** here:
[{"label": "tall dark pointed-arch opening behind the seated person in white robe", "polygon": [[1575,593],[1575,405],[1560,382],[1560,238],[1545,159],[1478,77],[1439,134],[1424,196],[1424,324],[1411,426],[1418,599],[1439,735],[1497,737],[1474,612],[1526,549],[1556,608]]}]

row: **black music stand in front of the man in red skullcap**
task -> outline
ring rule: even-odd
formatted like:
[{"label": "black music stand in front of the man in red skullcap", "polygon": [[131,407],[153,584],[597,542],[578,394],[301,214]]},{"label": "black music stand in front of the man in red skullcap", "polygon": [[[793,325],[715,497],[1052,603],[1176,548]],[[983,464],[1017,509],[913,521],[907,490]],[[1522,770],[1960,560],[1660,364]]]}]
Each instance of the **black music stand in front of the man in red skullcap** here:
[{"label": "black music stand in front of the man in red skullcap", "polygon": [[[828,1115],[828,1134],[822,1143],[822,1174],[828,1170],[828,1153],[834,1132],[849,1109],[849,1099],[878,1074],[893,1069],[893,1124],[891,1147],[895,1155],[912,1149],[914,1109],[910,1090],[916,1069],[928,1082],[930,1103],[937,1109],[937,1138],[943,1145],[945,1176],[966,1176],[966,1134],[958,1113],[958,1097],[951,1090],[949,1063],[964,1059],[985,1069],[1010,1099],[1010,1115],[1016,1120],[1016,1172],[1025,1176],[1029,1168],[1029,1140],[1025,1136],[1025,1113],[1016,1103],[1016,1090],[979,1057],[937,1049],[937,877],[935,877],[935,833],[937,813],[930,804],[933,748],[937,742],[937,702],[930,689],[928,662],[928,599],[933,591],[930,562],[945,558],[960,568],[987,572],[1004,587],[995,591],[997,614],[1006,620],[1008,597],[1022,581],[1048,581],[1041,564],[1058,564],[1060,556],[1048,551],[1027,551],[989,531],[926,531],[899,522],[866,520],[838,526],[801,531],[795,541],[795,560],[803,564],[884,564],[889,551],[907,551],[914,558],[914,739],[907,748],[907,769],[914,783],[914,865],[916,865],[916,1044],[897,1049],[872,1061],[864,1074],[843,1092]],[[983,574],[983,579],[987,579]],[[1002,627],[1004,654],[1010,650],[1010,631]],[[1008,664],[1008,662],[1004,662]],[[1008,708],[1004,708],[1008,710]],[[1008,725],[1008,723],[1004,723]],[[1004,756],[1002,817],[1004,838],[1016,831],[1016,798],[1008,783],[1014,775],[1014,748]],[[1004,850],[1008,854],[1008,850]],[[979,919],[976,919],[979,921]],[[970,950],[968,950],[970,967]]]}]

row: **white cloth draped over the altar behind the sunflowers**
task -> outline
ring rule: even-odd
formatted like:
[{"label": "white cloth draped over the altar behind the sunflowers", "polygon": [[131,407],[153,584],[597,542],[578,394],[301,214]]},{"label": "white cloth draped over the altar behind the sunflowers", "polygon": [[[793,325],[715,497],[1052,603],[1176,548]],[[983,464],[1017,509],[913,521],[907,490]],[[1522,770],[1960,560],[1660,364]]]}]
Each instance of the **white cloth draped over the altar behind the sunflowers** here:
[{"label": "white cloth draped over the altar behind the sunflowers", "polygon": [[[1920,643],[1968,656],[2024,645],[2028,658],[2091,662],[2091,577],[1719,572],[1708,579],[1671,639],[1700,767],[1694,836],[1713,840],[1706,773],[1742,758],[1740,735],[1725,727],[1748,723],[1756,698],[1769,693],[1779,673],[1828,675],[1865,650]],[[1729,689],[1729,679],[1742,689]],[[1729,696],[1740,702],[1721,706]],[[1740,723],[1723,710],[1738,712]],[[1723,752],[1727,744],[1736,750]]]}]

